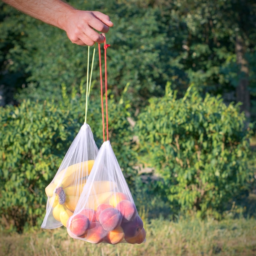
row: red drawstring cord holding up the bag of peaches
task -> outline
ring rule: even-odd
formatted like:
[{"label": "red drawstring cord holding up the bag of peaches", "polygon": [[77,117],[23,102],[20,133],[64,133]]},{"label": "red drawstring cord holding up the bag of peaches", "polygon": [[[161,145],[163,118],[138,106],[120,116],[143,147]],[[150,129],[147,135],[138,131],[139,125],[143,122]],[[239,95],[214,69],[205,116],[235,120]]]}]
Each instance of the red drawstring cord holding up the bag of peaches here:
[{"label": "red drawstring cord holding up the bag of peaches", "polygon": [[[106,37],[104,37],[104,56],[105,56],[105,102],[106,102],[106,133],[108,140],[108,75],[107,75],[107,48],[110,45],[106,44]],[[102,130],[103,141],[105,141],[105,124],[104,124],[104,104],[103,104],[103,83],[102,83],[102,68],[101,68],[101,46],[99,47],[99,76],[101,81],[101,113],[102,113]]]}]

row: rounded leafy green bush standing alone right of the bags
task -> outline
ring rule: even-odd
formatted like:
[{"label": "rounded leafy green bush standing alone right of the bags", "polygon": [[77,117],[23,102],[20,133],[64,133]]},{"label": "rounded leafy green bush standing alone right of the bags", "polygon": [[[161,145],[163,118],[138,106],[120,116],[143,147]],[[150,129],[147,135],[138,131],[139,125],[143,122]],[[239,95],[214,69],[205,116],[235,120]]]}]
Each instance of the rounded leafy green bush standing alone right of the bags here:
[{"label": "rounded leafy green bush standing alone right of the bags", "polygon": [[251,129],[238,105],[209,94],[203,99],[193,86],[177,99],[166,86],[166,95],[150,99],[139,115],[135,132],[171,207],[219,218],[227,202],[248,193]]}]

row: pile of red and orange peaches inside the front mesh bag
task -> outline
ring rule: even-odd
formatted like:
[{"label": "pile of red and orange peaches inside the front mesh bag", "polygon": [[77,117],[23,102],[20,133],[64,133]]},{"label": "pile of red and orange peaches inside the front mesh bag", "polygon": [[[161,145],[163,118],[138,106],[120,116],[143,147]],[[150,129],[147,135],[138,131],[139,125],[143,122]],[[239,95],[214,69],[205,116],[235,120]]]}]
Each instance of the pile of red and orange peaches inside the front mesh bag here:
[{"label": "pile of red and orange peaches inside the front mesh bag", "polygon": [[73,238],[90,243],[140,244],[146,238],[143,221],[125,193],[113,193],[108,202],[74,213],[67,221]]}]

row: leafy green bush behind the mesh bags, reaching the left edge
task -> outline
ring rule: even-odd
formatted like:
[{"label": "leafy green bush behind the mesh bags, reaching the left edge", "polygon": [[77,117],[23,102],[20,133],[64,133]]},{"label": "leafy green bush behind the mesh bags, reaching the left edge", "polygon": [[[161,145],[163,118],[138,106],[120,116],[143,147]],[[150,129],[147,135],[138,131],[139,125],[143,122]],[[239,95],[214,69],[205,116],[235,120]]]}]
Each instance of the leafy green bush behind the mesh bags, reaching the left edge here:
[{"label": "leafy green bush behind the mesh bags, reaching the left edge", "polygon": [[[71,96],[63,88],[62,101],[43,104],[23,101],[0,108],[0,223],[22,232],[40,227],[45,215],[45,187],[52,180],[74,137],[84,122],[85,100],[81,92]],[[132,187],[137,171],[131,150],[132,136],[123,104],[109,101],[110,142]],[[100,97],[92,99],[88,121],[98,146],[102,144]]]}]

